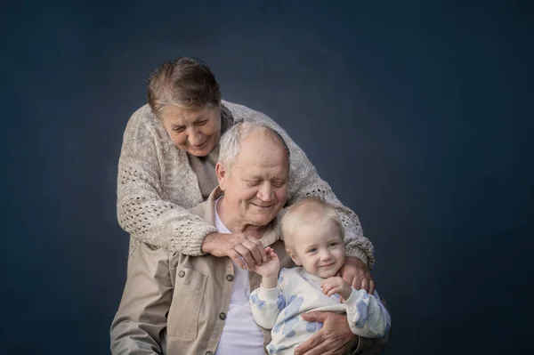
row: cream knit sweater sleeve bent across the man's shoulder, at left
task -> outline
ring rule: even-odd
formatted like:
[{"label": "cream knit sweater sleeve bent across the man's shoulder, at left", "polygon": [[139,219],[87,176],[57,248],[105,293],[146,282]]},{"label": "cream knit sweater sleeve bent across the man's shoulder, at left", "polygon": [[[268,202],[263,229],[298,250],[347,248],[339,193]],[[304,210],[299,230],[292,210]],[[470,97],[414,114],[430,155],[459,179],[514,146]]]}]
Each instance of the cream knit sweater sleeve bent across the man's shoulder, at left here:
[{"label": "cream knit sweater sleeve bent across the man's shoulder, at left", "polygon": [[137,241],[201,255],[202,241],[217,230],[182,206],[161,198],[161,133],[146,115],[147,109],[139,109],[125,129],[118,162],[117,220]]}]

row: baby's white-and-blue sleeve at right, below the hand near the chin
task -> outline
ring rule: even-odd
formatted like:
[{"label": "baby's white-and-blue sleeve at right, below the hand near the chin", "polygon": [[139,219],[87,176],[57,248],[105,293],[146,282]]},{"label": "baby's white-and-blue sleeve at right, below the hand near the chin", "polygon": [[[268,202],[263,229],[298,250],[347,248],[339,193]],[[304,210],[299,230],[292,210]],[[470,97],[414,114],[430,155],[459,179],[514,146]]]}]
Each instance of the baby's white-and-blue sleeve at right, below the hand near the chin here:
[{"label": "baby's white-and-blue sleeve at right, below the hand near the chin", "polygon": [[365,290],[352,289],[345,303],[352,333],[364,338],[384,338],[388,335],[392,319],[376,291],[369,295]]}]

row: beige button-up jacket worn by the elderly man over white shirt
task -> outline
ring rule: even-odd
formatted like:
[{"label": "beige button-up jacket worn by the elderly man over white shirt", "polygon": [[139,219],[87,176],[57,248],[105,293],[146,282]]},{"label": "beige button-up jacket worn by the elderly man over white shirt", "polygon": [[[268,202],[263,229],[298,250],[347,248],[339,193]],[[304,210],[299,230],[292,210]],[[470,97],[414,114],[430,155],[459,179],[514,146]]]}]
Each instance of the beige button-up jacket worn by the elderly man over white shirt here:
[{"label": "beige button-up jacket worn by the elderly man over white shirt", "polygon": [[[215,225],[219,188],[190,209]],[[294,267],[272,221],[261,239],[279,255],[282,268]],[[142,243],[131,261],[125,291],[111,325],[113,354],[213,355],[230,305],[234,265],[228,257],[188,256]],[[262,278],[249,273],[250,291]],[[271,331],[263,331],[263,346]]]}]

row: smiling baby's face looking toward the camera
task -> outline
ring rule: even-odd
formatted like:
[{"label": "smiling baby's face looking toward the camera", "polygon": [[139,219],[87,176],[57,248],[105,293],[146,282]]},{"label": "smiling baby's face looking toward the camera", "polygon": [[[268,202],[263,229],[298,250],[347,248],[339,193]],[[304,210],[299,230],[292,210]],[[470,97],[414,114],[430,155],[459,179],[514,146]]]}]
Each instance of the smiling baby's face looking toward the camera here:
[{"label": "smiling baby's face looking toward the camera", "polygon": [[330,278],[343,266],[344,243],[336,223],[302,226],[292,238],[295,247],[289,255],[310,274]]}]

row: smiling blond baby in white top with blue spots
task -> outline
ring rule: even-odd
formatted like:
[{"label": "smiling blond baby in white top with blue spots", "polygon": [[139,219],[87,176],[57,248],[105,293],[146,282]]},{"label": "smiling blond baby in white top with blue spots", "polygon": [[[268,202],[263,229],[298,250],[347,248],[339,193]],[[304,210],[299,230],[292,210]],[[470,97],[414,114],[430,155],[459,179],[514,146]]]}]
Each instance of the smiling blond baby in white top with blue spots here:
[{"label": "smiling blond baby in white top with blue spots", "polygon": [[388,335],[391,317],[376,291],[369,295],[336,276],[344,265],[344,229],[332,206],[315,198],[290,206],[282,232],[287,254],[300,267],[279,270],[277,254],[267,247],[269,261],[255,268],[262,286],[250,294],[256,323],[272,329],[269,354],[293,354],[320,330],[322,323],[301,317],[308,311],[346,313],[355,335]]}]

